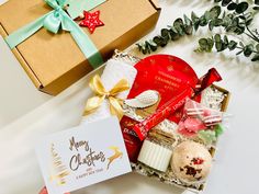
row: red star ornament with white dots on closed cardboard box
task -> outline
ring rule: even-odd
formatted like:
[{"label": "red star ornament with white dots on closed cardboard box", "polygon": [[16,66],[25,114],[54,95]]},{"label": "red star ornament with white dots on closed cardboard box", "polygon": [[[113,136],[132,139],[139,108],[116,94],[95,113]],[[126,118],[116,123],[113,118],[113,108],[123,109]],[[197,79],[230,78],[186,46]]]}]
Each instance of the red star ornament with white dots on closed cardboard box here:
[{"label": "red star ornament with white dots on closed cardboard box", "polygon": [[100,11],[93,13],[83,11],[85,19],[79,23],[80,26],[86,26],[92,34],[98,26],[104,25],[104,23],[99,19]]}]

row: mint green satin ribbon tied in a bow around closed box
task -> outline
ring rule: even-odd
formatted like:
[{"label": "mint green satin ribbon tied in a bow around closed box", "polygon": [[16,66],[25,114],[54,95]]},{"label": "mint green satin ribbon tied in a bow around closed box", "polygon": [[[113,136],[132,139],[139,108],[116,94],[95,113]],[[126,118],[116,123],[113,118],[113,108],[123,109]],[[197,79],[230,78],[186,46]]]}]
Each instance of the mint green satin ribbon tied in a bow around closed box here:
[{"label": "mint green satin ribbon tied in a bow around closed box", "polygon": [[54,34],[56,34],[61,28],[64,31],[70,32],[71,36],[83,55],[87,57],[90,65],[95,69],[103,62],[102,56],[88,35],[63,10],[65,1],[66,0],[45,0],[45,2],[54,10],[10,34],[5,38],[5,42],[10,48],[14,48],[42,27]]}]

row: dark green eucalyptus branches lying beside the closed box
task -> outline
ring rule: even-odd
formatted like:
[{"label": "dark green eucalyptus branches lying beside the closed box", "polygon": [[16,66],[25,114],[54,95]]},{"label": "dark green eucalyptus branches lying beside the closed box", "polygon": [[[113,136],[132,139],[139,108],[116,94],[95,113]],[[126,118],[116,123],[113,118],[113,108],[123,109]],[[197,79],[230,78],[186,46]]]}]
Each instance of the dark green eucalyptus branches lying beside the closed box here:
[{"label": "dark green eucalyptus branches lying beside the closed box", "polygon": [[192,12],[191,16],[188,18],[184,14],[183,18],[177,19],[171,26],[162,28],[160,35],[150,41],[138,43],[139,52],[150,54],[156,52],[158,47],[167,46],[169,42],[176,42],[183,36],[193,35],[200,27],[207,26],[210,31],[222,27],[225,33],[230,33],[234,36],[245,34],[251,43],[239,43],[238,46],[235,41],[228,42],[226,35],[222,39],[221,35],[216,34],[211,38],[199,39],[196,52],[212,52],[213,47],[217,52],[224,52],[227,48],[229,50],[239,49],[238,55],[244,54],[246,57],[251,57],[251,61],[258,61],[259,33],[257,30],[250,30],[249,26],[256,11],[259,10],[259,0],[255,0],[254,4],[249,4],[246,1],[234,2],[232,0],[214,0],[214,2],[218,3],[218,5],[205,11],[203,15],[198,16]]}]

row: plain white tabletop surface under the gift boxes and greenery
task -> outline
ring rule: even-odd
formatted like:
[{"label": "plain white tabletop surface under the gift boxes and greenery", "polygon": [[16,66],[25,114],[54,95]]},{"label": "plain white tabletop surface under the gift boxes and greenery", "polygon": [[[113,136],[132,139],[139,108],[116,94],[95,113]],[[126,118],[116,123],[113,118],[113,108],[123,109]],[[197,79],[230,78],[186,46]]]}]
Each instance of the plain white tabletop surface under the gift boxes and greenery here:
[{"label": "plain white tabletop surface under the gift boxes and greenery", "polygon": [[[0,0],[2,2],[3,0]],[[160,0],[164,8],[154,32],[171,24],[183,13],[202,13],[209,1]],[[190,14],[189,14],[190,15]],[[257,20],[258,21],[258,20]],[[202,32],[199,31],[202,36]],[[224,81],[219,85],[232,92],[230,128],[222,136],[214,168],[204,194],[258,194],[259,173],[259,69],[235,54],[193,53],[196,38],[187,37],[158,50],[187,60],[202,76],[216,67]],[[0,194],[37,194],[44,185],[34,155],[38,137],[59,132],[80,122],[85,101],[90,94],[88,77],[56,98],[38,92],[0,38]],[[180,194],[182,190],[138,174],[123,175],[87,187],[78,194]]]}]

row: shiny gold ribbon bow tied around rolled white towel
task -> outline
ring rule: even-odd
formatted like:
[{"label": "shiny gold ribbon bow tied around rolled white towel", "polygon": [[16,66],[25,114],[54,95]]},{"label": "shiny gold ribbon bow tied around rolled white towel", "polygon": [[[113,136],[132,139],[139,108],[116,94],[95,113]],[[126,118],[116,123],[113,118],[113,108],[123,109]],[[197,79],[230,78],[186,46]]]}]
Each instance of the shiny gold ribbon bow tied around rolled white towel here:
[{"label": "shiny gold ribbon bow tied around rolled white towel", "polygon": [[108,99],[111,114],[116,115],[117,118],[121,119],[123,116],[122,100],[116,98],[116,95],[130,89],[127,80],[120,80],[110,91],[106,91],[100,76],[95,75],[91,79],[89,87],[95,93],[95,96],[87,101],[83,116],[94,112],[103,103],[104,99]]}]

